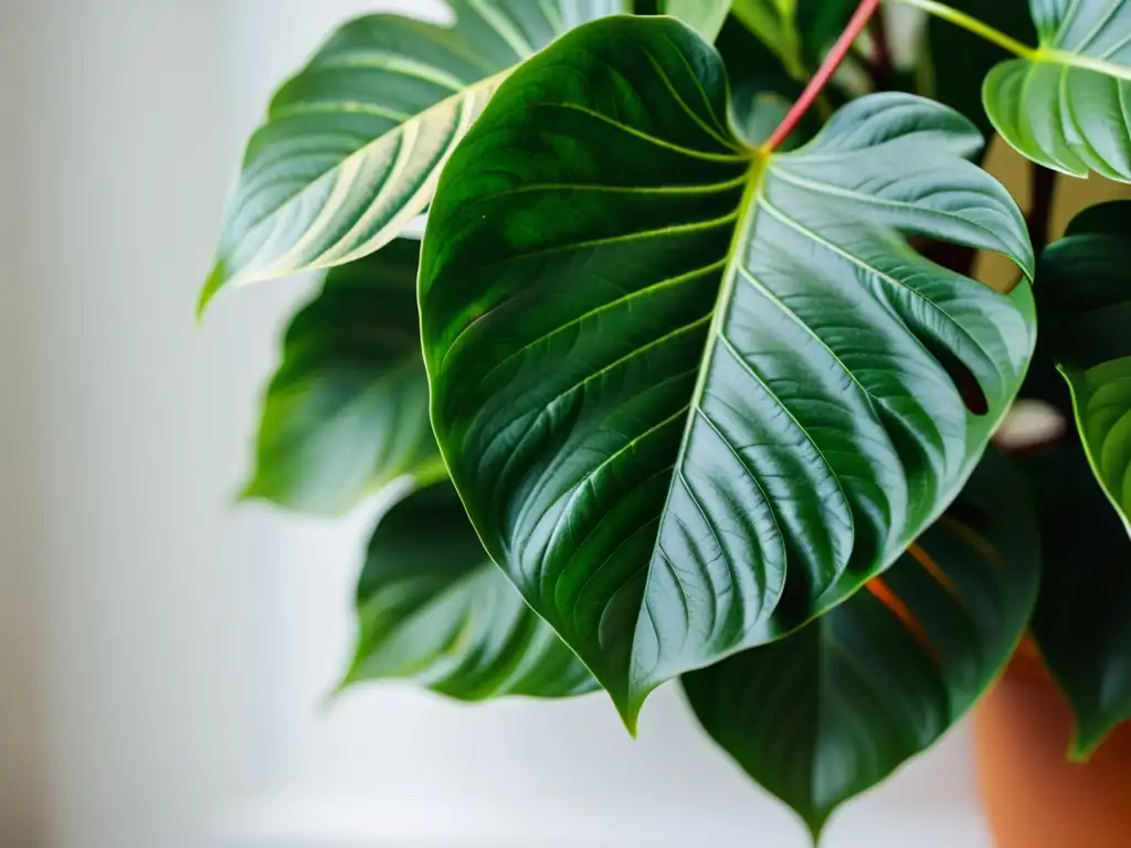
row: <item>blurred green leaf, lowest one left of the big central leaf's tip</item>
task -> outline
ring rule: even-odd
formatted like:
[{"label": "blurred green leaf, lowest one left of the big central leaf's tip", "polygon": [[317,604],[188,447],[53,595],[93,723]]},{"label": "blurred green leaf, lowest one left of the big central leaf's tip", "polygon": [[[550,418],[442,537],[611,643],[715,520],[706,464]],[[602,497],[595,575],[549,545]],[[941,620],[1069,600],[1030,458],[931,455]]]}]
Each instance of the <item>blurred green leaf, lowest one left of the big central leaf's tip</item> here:
[{"label": "blurred green leaf, lowest one left of the big central leaf's tip", "polygon": [[408,678],[465,701],[597,689],[487,557],[447,482],[381,518],[357,585],[357,618],[347,684]]}]

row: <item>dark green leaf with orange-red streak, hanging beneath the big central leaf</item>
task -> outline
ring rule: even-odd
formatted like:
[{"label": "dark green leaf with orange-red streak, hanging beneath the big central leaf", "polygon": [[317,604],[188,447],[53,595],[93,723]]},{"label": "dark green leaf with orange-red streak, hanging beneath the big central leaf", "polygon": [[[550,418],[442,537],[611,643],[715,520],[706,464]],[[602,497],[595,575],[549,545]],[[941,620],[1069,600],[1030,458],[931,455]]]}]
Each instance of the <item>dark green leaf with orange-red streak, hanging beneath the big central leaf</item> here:
[{"label": "dark green leaf with orange-red streak, hanging beneath the big central leaf", "polygon": [[685,675],[707,732],[814,837],[929,747],[1013,652],[1039,546],[1025,481],[988,453],[883,577],[798,632]]}]

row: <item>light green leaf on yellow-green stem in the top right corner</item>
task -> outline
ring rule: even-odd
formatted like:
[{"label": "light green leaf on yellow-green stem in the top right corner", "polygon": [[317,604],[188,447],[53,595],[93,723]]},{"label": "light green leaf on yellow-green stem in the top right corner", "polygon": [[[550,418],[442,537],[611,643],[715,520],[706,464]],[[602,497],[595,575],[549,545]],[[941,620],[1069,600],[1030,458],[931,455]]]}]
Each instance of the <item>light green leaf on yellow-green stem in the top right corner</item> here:
[{"label": "light green leaf on yellow-green stem in the top right corner", "polygon": [[1039,46],[994,68],[984,98],[1021,154],[1131,182],[1131,0],[1029,0]]}]

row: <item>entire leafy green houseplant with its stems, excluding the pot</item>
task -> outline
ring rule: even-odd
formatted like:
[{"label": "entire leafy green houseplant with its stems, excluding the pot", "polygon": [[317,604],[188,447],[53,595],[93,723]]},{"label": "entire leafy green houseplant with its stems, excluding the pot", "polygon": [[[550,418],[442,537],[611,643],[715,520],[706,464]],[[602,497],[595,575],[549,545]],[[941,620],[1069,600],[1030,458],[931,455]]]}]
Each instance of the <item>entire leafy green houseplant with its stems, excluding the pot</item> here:
[{"label": "entire leafy green houseplant with its stems, excluding the pot", "polygon": [[[279,88],[201,300],[328,269],[245,493],[388,504],[346,682],[603,689],[634,733],[679,678],[815,838],[1031,631],[1086,758],[1131,716],[1131,207],[1046,246],[1048,199],[1131,182],[1131,0],[449,5]],[[991,448],[1019,397],[1076,426]]]}]

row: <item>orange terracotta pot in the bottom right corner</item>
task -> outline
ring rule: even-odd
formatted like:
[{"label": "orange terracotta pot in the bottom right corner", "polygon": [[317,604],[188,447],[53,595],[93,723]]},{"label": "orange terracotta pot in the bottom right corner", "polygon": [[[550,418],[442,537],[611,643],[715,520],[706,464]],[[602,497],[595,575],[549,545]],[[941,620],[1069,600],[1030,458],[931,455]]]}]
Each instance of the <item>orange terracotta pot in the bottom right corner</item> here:
[{"label": "orange terracotta pot in the bottom right corner", "polygon": [[1131,724],[1085,763],[1072,717],[1031,646],[974,713],[978,784],[998,848],[1129,848]]}]

